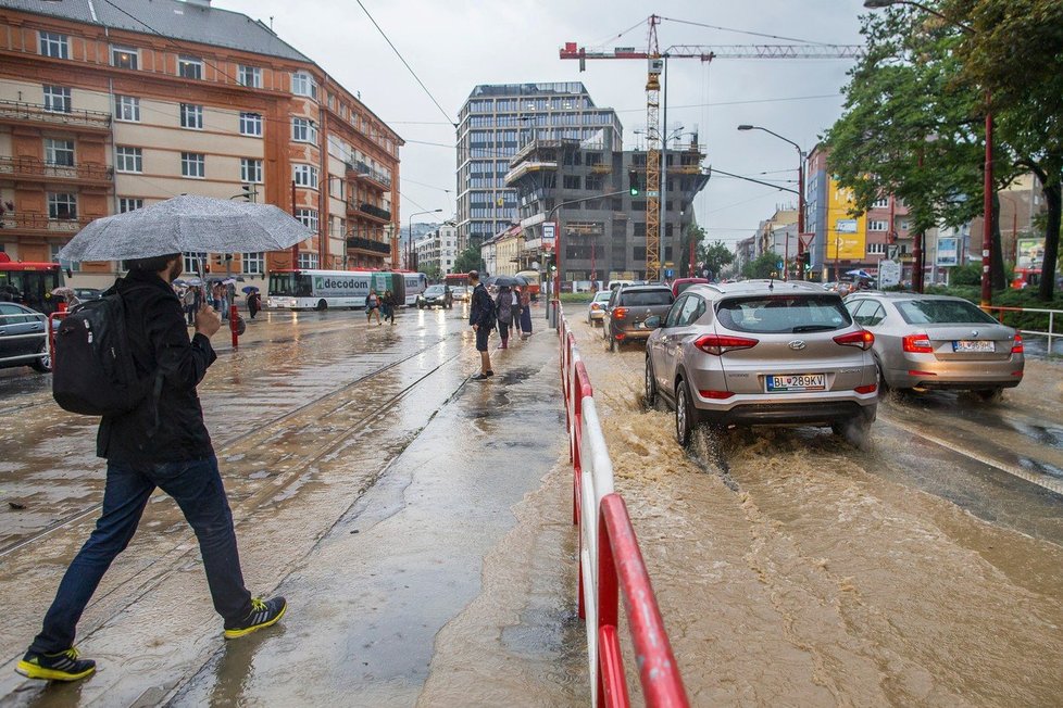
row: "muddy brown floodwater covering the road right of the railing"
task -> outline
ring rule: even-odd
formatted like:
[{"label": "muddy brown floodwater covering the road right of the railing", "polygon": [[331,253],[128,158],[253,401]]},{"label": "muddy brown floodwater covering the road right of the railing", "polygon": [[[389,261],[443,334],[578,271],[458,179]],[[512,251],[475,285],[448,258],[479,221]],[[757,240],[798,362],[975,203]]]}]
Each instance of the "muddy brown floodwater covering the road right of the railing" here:
[{"label": "muddy brown floodwater covering the road right of the railing", "polygon": [[1063,367],[996,406],[889,399],[870,452],[804,428],[686,454],[642,347],[574,327],[693,705],[1063,705],[1063,497],[1004,471],[1063,469]]}]

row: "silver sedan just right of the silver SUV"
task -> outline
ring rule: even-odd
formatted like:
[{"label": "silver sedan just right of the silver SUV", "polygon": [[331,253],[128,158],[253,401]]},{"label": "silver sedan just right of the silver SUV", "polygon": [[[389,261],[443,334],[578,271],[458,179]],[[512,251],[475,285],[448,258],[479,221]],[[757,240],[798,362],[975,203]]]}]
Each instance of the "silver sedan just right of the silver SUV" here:
[{"label": "silver sedan just right of the silver SUV", "polygon": [[858,292],[854,320],[875,334],[883,388],[974,391],[987,401],[1023,380],[1023,338],[962,298]]}]

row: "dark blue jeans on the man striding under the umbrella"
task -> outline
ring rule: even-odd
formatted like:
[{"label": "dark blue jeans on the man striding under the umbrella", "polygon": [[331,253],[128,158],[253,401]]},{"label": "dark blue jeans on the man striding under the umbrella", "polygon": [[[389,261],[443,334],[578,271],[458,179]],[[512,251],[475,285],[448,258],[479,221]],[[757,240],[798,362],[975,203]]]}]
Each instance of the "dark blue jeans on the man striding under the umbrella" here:
[{"label": "dark blue jeans on the man striding under the umbrella", "polygon": [[212,456],[155,465],[109,462],[103,513],[66,569],[45,615],[43,629],[29,647],[32,652],[54,654],[74,645],[82,612],[111,562],[129,545],[157,486],[177,502],[196,531],[214,609],[226,623],[238,622],[250,614],[251,594],[243,586],[233,513],[225,498],[217,459]]}]

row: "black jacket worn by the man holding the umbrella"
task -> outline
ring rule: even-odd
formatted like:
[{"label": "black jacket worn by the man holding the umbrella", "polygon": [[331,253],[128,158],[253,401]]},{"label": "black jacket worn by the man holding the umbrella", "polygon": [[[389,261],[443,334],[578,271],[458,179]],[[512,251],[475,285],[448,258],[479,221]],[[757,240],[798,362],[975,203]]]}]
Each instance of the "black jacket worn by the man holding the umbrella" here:
[{"label": "black jacket worn by the man holding the umbrella", "polygon": [[115,287],[139,376],[163,372],[158,416],[149,395],[134,410],[104,416],[96,454],[111,462],[153,464],[203,459],[214,454],[196,387],[217,355],[207,337],[188,340],[180,301],[162,278],[133,270]]}]

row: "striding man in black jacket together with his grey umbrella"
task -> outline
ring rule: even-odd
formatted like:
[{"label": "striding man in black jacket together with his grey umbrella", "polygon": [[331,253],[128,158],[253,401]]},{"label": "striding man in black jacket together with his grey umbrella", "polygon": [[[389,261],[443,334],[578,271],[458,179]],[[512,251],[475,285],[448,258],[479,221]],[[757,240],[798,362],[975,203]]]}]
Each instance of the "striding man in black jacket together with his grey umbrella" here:
[{"label": "striding man in black jacket together with his grey umbrella", "polygon": [[[97,219],[60,251],[62,261],[124,262],[128,275],[97,302],[110,308],[121,299],[128,342],[123,355],[139,377],[129,383],[146,391],[132,409],[102,416],[97,437],[97,455],[107,459],[101,516],[66,569],[40,633],[15,667],[18,673],[76,681],[96,670],[96,662],[74,647],[77,622],[133,539],[155,488],[174,498],[196,532],[225,637],[243,636],[284,616],[284,597],[263,600],[245,586],[233,514],[196,392],[217,358],[210,338],[221,319],[203,305],[189,340],[172,282],[180,275],[183,252],[279,251],[309,236],[275,206],[178,197]],[[59,375],[62,359],[55,364]],[[146,381],[152,385],[141,385]],[[182,608],[173,614],[179,617]]]}]

